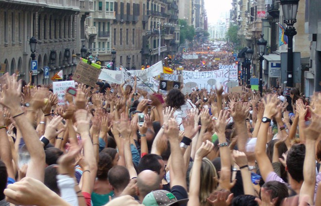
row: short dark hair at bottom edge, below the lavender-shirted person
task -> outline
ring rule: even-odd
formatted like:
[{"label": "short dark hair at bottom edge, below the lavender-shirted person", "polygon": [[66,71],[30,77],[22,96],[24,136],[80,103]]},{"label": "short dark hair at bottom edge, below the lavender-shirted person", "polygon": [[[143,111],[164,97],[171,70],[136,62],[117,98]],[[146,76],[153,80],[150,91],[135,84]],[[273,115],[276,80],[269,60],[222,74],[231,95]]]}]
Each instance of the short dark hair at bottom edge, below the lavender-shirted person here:
[{"label": "short dark hair at bottom edge, below the lavender-shirted person", "polygon": [[[279,181],[269,181],[265,183],[262,187],[267,188],[270,191],[270,200],[277,198],[274,206],[281,206],[281,202],[284,198],[288,197],[287,186]],[[260,192],[261,198],[261,192]]]}]

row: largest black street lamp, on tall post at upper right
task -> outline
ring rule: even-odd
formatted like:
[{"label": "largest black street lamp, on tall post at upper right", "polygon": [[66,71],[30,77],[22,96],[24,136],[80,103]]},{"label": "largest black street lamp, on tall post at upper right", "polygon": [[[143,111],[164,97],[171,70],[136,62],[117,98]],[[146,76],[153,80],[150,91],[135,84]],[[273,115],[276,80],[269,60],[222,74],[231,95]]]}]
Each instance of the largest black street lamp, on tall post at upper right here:
[{"label": "largest black street lamp, on tall post at upper right", "polygon": [[299,0],[280,0],[283,10],[284,23],[287,24],[287,86],[293,87],[293,37],[297,34],[294,23],[297,21],[296,15],[299,7]]}]

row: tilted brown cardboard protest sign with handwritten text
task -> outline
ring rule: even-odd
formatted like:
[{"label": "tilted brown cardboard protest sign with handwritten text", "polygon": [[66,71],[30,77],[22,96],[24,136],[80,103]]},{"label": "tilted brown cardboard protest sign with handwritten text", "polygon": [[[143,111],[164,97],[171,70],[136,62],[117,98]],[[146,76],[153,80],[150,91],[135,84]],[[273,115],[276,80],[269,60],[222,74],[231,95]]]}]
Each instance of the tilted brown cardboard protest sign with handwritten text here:
[{"label": "tilted brown cardboard protest sign with handwritten text", "polygon": [[95,87],[98,77],[101,74],[101,70],[90,66],[84,62],[79,62],[77,65],[73,80],[79,83]]}]

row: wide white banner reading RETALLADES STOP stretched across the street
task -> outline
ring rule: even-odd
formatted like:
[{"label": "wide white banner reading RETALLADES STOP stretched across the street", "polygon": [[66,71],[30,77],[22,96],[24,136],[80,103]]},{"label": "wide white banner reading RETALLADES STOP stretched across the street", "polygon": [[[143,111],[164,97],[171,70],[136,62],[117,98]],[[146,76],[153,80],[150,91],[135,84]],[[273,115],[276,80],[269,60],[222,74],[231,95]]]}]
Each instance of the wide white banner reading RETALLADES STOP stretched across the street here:
[{"label": "wide white banner reading RETALLADES STOP stretched across the street", "polygon": [[183,71],[184,82],[195,82],[199,89],[207,89],[208,92],[211,89],[215,89],[215,85],[209,85],[207,82],[210,79],[215,79],[217,84],[222,84],[224,91],[227,92],[226,83],[229,81],[229,70],[221,69],[209,72],[189,72]]}]

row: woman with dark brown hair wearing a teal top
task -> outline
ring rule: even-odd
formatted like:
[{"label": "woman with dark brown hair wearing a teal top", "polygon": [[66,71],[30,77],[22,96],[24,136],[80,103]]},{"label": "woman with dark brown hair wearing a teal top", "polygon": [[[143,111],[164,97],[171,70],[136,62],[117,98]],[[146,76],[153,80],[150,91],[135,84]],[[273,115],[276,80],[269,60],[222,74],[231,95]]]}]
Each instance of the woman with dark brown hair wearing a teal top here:
[{"label": "woman with dark brown hair wearing a teal top", "polygon": [[91,194],[93,206],[103,206],[109,202],[114,191],[108,182],[108,171],[113,167],[113,158],[107,152],[99,153],[97,178]]}]

